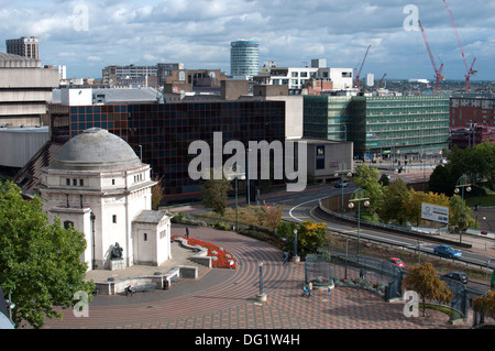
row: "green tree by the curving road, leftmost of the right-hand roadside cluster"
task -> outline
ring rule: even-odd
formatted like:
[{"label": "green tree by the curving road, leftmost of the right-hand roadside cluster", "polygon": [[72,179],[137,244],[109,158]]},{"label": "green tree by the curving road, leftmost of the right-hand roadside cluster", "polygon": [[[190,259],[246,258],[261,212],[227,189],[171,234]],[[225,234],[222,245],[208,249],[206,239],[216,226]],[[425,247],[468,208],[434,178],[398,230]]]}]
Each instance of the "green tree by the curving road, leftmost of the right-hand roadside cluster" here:
[{"label": "green tree by the curving road, leftmost of the right-hand roadside cluster", "polygon": [[377,167],[370,167],[366,164],[355,168],[354,183],[366,191],[370,198],[370,206],[365,209],[369,212],[376,212],[383,201],[383,185],[378,182],[380,171]]}]

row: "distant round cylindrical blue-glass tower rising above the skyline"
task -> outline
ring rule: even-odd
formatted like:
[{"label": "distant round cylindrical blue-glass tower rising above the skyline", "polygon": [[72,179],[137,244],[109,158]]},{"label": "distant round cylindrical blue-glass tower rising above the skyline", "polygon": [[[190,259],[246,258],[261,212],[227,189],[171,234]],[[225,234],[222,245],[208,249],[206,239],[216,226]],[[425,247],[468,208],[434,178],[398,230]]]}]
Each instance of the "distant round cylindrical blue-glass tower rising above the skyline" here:
[{"label": "distant round cylindrical blue-glass tower rising above the skyline", "polygon": [[260,72],[260,43],[237,41],[230,44],[230,75],[255,76]]}]

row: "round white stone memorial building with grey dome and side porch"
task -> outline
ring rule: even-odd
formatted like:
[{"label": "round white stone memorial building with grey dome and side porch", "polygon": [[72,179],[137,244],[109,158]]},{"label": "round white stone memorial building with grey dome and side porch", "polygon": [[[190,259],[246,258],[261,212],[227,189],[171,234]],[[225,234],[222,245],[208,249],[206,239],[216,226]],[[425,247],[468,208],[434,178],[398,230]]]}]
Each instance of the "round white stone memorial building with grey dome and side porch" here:
[{"label": "round white stone memorial building with grey dome and side porch", "polygon": [[40,193],[58,217],[86,237],[89,270],[160,265],[170,255],[170,218],[151,209],[150,165],[107,130],[92,128],[61,147],[43,169]]}]

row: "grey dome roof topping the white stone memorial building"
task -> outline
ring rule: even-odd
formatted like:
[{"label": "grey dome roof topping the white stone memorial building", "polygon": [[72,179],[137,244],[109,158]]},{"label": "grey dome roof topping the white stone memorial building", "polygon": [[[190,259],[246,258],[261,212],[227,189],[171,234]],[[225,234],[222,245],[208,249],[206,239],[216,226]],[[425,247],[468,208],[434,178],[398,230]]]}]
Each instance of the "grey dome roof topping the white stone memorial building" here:
[{"label": "grey dome roof topping the white stone memorial building", "polygon": [[50,164],[53,169],[121,171],[141,166],[132,147],[105,129],[91,128],[70,139]]}]

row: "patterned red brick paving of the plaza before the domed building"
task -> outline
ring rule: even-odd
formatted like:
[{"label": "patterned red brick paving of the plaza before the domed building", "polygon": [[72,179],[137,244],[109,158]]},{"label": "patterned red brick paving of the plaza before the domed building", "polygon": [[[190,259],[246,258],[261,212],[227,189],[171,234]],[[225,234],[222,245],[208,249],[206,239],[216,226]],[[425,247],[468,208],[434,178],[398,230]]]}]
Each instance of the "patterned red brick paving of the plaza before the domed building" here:
[{"label": "patterned red brick paving of the plaza before the domed building", "polygon": [[[174,229],[182,230],[180,226]],[[89,317],[65,311],[45,329],[468,329],[452,326],[441,312],[406,318],[404,303],[386,303],[370,292],[336,287],[301,296],[304,262],[283,265],[272,245],[209,228],[191,228],[191,238],[230,251],[237,270],[208,270],[199,279],[183,281],[169,290],[96,296]],[[258,303],[258,262],[264,262],[264,293]],[[156,271],[156,268],[151,267]]]}]

